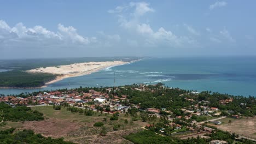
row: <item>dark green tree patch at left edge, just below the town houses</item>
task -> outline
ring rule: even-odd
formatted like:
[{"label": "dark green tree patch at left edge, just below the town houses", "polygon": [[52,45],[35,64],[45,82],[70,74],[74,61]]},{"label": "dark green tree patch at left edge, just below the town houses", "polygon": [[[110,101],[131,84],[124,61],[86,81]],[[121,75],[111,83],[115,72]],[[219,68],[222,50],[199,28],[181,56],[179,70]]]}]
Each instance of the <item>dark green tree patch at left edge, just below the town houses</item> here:
[{"label": "dark green tree patch at left edge, just below the town houses", "polygon": [[44,119],[43,113],[37,110],[33,111],[30,107],[26,106],[11,107],[1,102],[0,111],[2,112],[0,119],[4,119],[4,121],[39,121]]}]

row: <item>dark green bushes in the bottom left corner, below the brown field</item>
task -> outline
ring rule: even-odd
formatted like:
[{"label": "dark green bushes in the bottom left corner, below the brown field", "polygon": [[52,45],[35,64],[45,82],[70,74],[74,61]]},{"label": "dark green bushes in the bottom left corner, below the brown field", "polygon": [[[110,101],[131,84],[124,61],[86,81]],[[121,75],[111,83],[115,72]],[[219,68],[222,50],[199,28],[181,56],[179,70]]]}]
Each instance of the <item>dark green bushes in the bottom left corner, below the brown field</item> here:
[{"label": "dark green bushes in the bottom left corner, below the brown field", "polygon": [[33,130],[23,130],[16,131],[14,133],[14,128],[0,131],[0,141],[3,144],[9,143],[61,143],[61,144],[71,144],[73,142],[63,141],[63,138],[52,139],[51,137],[44,137],[40,134],[34,134]]}]

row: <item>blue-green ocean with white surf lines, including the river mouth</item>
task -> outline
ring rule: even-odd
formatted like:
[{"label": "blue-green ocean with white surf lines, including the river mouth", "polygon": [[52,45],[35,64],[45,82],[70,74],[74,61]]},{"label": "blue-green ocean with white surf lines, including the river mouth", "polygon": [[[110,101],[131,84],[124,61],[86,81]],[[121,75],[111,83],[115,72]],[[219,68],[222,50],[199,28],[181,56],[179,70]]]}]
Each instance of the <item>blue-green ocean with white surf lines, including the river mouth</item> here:
[{"label": "blue-green ocean with white surf lines, including the river mouth", "polygon": [[[115,73],[115,74],[114,74]],[[115,83],[114,83],[115,78]],[[90,75],[70,77],[40,89],[0,89],[2,94],[19,94],[75,87],[155,84],[201,91],[256,96],[256,57],[147,58],[102,69]]]}]

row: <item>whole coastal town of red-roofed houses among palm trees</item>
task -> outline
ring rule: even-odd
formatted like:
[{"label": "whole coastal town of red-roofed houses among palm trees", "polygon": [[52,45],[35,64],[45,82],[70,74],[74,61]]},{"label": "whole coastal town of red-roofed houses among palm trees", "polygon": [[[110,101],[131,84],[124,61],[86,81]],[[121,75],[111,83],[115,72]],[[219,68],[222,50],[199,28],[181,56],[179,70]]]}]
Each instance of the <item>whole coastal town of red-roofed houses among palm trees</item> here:
[{"label": "whole coastal town of red-roofed houses among palm trees", "polygon": [[[129,92],[128,92],[129,91]],[[164,92],[174,92],[175,97],[168,97]],[[170,103],[175,100],[184,101],[186,106],[176,106],[175,109],[163,106],[144,106],[143,103],[135,101],[134,93],[161,93],[159,97],[168,97]],[[131,93],[131,94],[129,94]],[[173,99],[174,98],[174,99]],[[149,98],[150,99],[150,98]],[[106,88],[76,88],[61,89],[56,91],[37,92],[33,94],[21,94],[15,96],[1,97],[0,101],[12,107],[16,106],[69,106],[80,109],[79,113],[86,110],[120,115],[139,116],[145,124],[143,129],[154,131],[159,135],[176,136],[181,139],[201,137],[210,139],[215,133],[218,125],[222,124],[221,119],[229,118],[229,124],[235,119],[248,117],[245,113],[234,109],[223,109],[223,106],[234,103],[234,98],[225,95],[225,99],[218,99],[218,107],[211,106],[211,101],[202,98],[202,93],[196,91],[183,91],[177,88],[168,88],[158,83],[157,85],[132,85],[124,87]],[[237,103],[237,100],[235,100]],[[177,102],[178,103],[178,102]],[[239,106],[250,110],[247,103],[240,103]],[[60,108],[61,109],[61,108]],[[77,110],[78,112],[78,110]],[[119,114],[118,114],[119,115]],[[156,122],[160,119],[160,122]],[[234,139],[250,139],[238,134]],[[212,140],[211,143],[228,143],[227,141]]]}]

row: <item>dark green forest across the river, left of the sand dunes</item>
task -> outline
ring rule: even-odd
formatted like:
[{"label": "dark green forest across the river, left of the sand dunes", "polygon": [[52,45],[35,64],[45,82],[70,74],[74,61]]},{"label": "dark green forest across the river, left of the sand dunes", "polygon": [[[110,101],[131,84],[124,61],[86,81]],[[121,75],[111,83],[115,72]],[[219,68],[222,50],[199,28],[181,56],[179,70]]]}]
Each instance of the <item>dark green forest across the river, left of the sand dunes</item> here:
[{"label": "dark green forest across the river, left of the sand dunes", "polygon": [[26,73],[21,70],[0,73],[0,87],[40,87],[54,80],[56,75],[46,73]]}]

